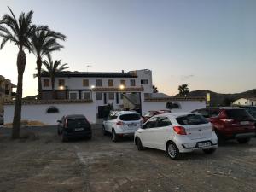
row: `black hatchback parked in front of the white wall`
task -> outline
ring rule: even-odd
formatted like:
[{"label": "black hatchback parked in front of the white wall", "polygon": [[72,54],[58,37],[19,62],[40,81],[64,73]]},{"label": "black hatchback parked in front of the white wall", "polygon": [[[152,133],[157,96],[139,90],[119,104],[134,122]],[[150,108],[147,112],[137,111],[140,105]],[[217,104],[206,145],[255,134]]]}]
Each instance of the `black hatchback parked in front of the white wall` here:
[{"label": "black hatchback parked in front of the white wall", "polygon": [[63,116],[57,121],[58,135],[61,141],[66,142],[69,138],[89,138],[91,139],[91,126],[82,114],[72,114]]}]

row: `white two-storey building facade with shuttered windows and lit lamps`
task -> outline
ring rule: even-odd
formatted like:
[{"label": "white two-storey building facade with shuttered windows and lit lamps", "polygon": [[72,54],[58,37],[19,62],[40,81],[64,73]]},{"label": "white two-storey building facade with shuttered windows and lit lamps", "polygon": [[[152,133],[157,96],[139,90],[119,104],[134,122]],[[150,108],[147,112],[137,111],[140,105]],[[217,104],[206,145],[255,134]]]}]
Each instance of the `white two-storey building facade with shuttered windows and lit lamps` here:
[{"label": "white two-storey building facade with shuttered windows and lit lamps", "polygon": [[42,99],[92,100],[100,106],[123,108],[124,94],[152,93],[152,72],[148,69],[121,73],[61,72],[55,75],[55,94],[48,73],[42,74]]}]

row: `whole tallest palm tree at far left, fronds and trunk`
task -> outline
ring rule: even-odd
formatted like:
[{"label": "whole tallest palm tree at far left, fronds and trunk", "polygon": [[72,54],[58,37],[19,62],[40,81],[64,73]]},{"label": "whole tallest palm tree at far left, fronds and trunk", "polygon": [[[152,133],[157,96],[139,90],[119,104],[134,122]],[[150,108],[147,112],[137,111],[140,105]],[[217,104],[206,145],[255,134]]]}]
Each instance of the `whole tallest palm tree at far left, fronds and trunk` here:
[{"label": "whole tallest palm tree at far left, fronds and trunk", "polygon": [[21,12],[19,20],[16,20],[13,11],[8,7],[11,15],[3,15],[2,20],[0,20],[0,37],[2,39],[2,44],[0,49],[3,49],[4,45],[10,41],[14,43],[18,49],[17,55],[17,69],[18,69],[18,82],[17,91],[15,96],[15,114],[13,120],[13,131],[12,137],[20,137],[20,118],[21,118],[21,99],[22,99],[22,85],[23,85],[23,73],[26,67],[26,54],[25,50],[30,50],[31,43],[29,38],[32,32],[39,29],[44,29],[45,26],[34,26],[32,25],[32,15],[33,11],[29,11],[27,14]]}]

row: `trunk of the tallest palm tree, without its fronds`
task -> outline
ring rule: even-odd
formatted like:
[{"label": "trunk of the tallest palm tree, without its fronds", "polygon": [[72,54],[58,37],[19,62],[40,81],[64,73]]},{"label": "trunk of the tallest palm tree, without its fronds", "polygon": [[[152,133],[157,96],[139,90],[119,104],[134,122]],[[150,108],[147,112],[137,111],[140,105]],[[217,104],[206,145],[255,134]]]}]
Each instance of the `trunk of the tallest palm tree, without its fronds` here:
[{"label": "trunk of the tallest palm tree, without its fronds", "polygon": [[23,73],[26,67],[26,54],[20,48],[17,57],[17,69],[18,69],[18,84],[15,97],[15,114],[13,120],[12,138],[20,137],[20,120],[21,120],[21,102],[22,102],[22,86],[23,86]]}]

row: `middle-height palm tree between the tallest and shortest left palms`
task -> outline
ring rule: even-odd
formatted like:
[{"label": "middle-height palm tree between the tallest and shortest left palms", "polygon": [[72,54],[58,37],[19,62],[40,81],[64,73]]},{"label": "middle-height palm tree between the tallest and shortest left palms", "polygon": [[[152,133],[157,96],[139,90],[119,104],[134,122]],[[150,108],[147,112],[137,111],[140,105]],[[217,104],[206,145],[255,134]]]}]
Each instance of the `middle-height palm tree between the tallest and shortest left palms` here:
[{"label": "middle-height palm tree between the tallest and shortest left palms", "polygon": [[57,39],[65,40],[66,36],[51,30],[35,31],[31,36],[32,53],[37,57],[38,99],[42,98],[42,58],[44,55],[48,55],[52,51],[63,48],[63,46],[57,42]]}]

